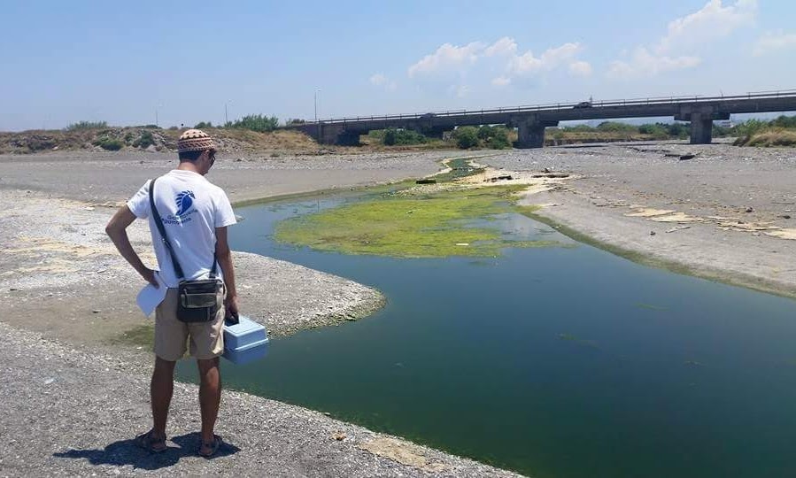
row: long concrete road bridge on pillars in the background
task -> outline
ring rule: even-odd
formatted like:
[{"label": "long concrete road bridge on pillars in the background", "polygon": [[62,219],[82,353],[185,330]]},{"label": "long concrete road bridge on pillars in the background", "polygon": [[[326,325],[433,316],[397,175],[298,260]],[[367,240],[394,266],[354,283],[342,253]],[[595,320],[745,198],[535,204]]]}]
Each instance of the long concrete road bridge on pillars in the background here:
[{"label": "long concrete road bridge on pillars in the background", "polygon": [[796,111],[796,90],[767,91],[737,96],[679,96],[599,102],[540,104],[491,110],[460,110],[388,116],[320,120],[291,125],[313,136],[319,143],[357,144],[359,135],[388,127],[411,129],[424,135],[441,136],[460,126],[506,125],[518,130],[518,148],[541,148],[545,127],[559,121],[610,120],[621,118],[673,117],[691,122],[691,143],[713,139],[713,121],[729,120],[733,113]]}]

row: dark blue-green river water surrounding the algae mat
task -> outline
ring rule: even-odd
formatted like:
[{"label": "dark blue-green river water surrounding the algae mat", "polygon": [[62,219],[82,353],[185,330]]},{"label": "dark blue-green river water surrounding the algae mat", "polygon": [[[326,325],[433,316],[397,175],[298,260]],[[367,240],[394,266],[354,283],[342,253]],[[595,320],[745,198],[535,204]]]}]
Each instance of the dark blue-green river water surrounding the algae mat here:
[{"label": "dark blue-green river water surrounding the algae mat", "polygon": [[225,386],[537,477],[796,476],[796,302],[514,214],[491,224],[574,247],[395,259],[271,238],[278,220],[351,200],[243,208],[232,246],[373,286],[386,307],[273,339],[256,364],[222,361]]}]

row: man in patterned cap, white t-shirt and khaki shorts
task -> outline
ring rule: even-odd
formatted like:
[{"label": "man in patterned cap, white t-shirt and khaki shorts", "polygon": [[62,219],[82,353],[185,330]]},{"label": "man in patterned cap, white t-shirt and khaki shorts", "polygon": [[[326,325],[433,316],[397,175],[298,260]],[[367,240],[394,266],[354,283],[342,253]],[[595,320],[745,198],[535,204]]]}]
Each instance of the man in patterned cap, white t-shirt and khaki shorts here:
[{"label": "man in patterned cap, white t-shirt and khaki shorts", "polygon": [[[136,437],[136,443],[149,451],[166,450],[166,419],[174,391],[174,365],[190,343],[190,354],[197,358],[199,405],[202,413],[202,445],[199,455],[210,458],[219,449],[220,436],[213,434],[221,399],[219,356],[224,351],[223,324],[227,314],[237,314],[235,270],[227,241],[227,227],[235,224],[235,214],[223,189],[205,179],[215,161],[213,139],[198,129],[189,129],[177,142],[180,166],[154,181],[154,204],[166,231],[176,261],[184,277],[178,277],[174,263],[151,211],[147,181],[135,196],[112,217],[105,232],[122,257],[144,280],[158,287],[156,272],[143,265],[128,239],[127,227],[136,218],[149,218],[152,244],[158,258],[160,281],[168,288],[166,298],[155,312],[155,369],[151,381],[153,426]],[[178,284],[206,279],[215,270],[223,273],[226,297],[213,320],[186,323],[177,319]]]}]

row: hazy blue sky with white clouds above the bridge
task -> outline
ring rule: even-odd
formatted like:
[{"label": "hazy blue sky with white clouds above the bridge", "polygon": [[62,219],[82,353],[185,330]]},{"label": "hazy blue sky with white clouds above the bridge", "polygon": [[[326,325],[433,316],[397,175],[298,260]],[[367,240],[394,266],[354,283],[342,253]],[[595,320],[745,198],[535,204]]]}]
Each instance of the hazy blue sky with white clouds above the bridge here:
[{"label": "hazy blue sky with white clouds above the bridge", "polygon": [[796,89],[791,0],[0,0],[0,131]]}]

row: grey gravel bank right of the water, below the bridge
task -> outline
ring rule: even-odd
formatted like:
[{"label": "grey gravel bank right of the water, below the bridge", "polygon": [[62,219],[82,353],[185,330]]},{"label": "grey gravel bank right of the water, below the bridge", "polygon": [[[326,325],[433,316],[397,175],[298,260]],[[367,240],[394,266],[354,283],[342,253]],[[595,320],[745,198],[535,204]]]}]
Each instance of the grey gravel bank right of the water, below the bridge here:
[{"label": "grey gravel bank right of the water, below the bridge", "polygon": [[[615,252],[796,296],[796,149],[626,143],[514,150],[479,162],[576,174],[524,203],[548,204],[540,216]],[[686,217],[626,215],[643,209]]]}]

